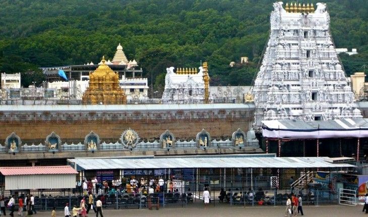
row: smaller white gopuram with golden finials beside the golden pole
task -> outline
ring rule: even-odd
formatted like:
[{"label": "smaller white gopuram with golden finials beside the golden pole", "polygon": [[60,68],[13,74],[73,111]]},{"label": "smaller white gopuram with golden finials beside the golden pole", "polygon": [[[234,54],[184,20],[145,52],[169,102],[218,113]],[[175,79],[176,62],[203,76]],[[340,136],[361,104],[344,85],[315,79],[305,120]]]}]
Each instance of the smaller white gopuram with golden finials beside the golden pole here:
[{"label": "smaller white gopuram with golden finials beside the golden pole", "polygon": [[196,68],[178,68],[174,72],[174,67],[167,68],[162,103],[203,103],[205,83],[202,67],[199,69],[198,72]]}]

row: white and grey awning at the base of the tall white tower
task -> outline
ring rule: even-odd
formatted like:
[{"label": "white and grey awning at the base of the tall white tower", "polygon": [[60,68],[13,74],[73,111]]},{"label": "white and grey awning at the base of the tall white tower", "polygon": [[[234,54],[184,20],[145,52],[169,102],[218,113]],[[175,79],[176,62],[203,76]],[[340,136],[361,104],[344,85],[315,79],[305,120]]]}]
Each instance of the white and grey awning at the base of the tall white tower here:
[{"label": "white and grey awning at the base of the tall white tower", "polygon": [[273,120],[262,123],[262,134],[268,138],[368,137],[368,119],[363,118],[329,121]]}]

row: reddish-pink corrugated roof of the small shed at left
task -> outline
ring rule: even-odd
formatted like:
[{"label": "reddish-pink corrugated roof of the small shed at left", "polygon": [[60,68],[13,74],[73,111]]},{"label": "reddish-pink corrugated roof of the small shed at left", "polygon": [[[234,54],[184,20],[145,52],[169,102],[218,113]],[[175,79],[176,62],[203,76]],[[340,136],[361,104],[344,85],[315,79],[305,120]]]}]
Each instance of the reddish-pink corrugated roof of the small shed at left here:
[{"label": "reddish-pink corrugated roof of the small shed at left", "polygon": [[4,176],[46,175],[46,174],[78,174],[71,166],[55,167],[2,167],[0,173]]}]

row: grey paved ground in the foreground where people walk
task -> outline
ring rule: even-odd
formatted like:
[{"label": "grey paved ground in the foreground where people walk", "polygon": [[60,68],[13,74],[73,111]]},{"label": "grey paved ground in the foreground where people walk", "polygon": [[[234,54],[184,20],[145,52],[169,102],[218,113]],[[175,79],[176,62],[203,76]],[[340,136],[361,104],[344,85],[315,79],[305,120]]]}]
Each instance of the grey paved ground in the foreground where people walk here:
[{"label": "grey paved ground in the foreground where people walk", "polygon": [[[303,216],[328,216],[328,217],[346,217],[346,216],[364,216],[361,212],[362,205],[357,206],[343,206],[343,205],[326,205],[326,206],[303,206]],[[232,206],[229,204],[210,206],[208,209],[204,209],[200,203],[190,204],[185,208],[181,206],[167,206],[160,208],[159,210],[149,209],[105,209],[103,211],[104,217],[117,217],[117,216],[174,216],[174,217],[192,217],[192,216],[280,216],[283,217],[285,208],[281,206],[255,206],[255,207],[242,207]],[[8,213],[7,213],[8,214]],[[33,215],[34,217],[50,216],[50,211],[40,211]],[[368,215],[368,214],[367,214]],[[9,216],[9,214],[7,215]],[[17,215],[14,215],[17,216]],[[57,211],[56,216],[64,216],[64,212]],[[95,216],[92,212],[89,213],[90,217]]]}]

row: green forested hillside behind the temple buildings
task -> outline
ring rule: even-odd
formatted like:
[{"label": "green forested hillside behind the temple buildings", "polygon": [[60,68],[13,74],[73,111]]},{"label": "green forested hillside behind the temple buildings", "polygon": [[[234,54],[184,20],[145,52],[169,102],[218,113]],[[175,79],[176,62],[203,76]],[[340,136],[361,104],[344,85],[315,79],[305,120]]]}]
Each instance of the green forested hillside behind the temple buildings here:
[{"label": "green forested hillside behind the temple buildings", "polygon": [[[268,39],[273,2],[0,0],[0,72],[98,63],[103,55],[112,59],[120,42],[145,76],[152,73],[156,88],[166,67],[199,67],[201,61],[209,63],[212,85],[250,85]],[[340,56],[346,73],[368,71],[368,1],[325,2],[336,47],[359,52]],[[243,56],[250,65],[229,68]]]}]

